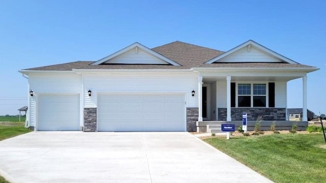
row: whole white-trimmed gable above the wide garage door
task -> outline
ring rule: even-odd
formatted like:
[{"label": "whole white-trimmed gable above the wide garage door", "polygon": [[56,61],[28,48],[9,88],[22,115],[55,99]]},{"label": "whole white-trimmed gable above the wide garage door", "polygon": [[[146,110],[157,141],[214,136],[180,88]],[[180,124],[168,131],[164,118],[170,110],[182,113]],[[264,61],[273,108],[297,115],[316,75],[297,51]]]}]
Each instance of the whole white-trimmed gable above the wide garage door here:
[{"label": "whole white-trimmed gable above the wide garage door", "polygon": [[106,65],[106,64],[138,64],[138,65],[173,65],[180,66],[180,64],[173,60],[147,48],[140,43],[133,43],[130,46],[123,48],[111,55],[108,55],[92,65]]}]

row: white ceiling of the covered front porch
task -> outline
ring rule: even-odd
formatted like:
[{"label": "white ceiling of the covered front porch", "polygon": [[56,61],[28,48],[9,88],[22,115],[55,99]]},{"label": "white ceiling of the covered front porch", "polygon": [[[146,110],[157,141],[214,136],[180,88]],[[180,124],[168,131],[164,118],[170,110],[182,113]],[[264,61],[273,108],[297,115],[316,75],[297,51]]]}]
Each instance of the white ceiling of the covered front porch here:
[{"label": "white ceiling of the covered front porch", "polygon": [[[231,82],[235,81],[290,81],[302,76],[231,76]],[[226,76],[203,76],[203,83],[226,81]]]}]

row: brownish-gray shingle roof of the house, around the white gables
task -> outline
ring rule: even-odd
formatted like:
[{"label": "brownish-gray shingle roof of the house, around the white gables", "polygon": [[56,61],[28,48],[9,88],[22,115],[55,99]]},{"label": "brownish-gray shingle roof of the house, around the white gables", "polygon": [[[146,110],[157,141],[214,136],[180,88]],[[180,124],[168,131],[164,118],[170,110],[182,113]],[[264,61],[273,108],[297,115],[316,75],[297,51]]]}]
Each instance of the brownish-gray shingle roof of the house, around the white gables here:
[{"label": "brownish-gray shingle roof of the house, around the white gables", "polygon": [[72,69],[191,69],[191,68],[314,68],[301,64],[285,63],[213,63],[204,64],[208,60],[224,53],[220,50],[201,47],[175,41],[152,48],[153,51],[174,60],[181,66],[172,65],[129,65],[103,64],[91,65],[95,61],[77,61],[65,64],[30,68],[33,71],[71,71]]}]

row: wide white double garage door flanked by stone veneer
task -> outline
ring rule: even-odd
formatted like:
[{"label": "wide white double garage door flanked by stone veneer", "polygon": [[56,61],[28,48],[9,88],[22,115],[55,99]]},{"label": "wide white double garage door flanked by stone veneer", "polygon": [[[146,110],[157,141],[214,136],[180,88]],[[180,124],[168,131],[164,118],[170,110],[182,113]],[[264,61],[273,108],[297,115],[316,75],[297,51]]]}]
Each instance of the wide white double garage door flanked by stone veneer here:
[{"label": "wide white double garage door flanked by stone veneer", "polygon": [[97,131],[185,131],[183,94],[100,94]]}]

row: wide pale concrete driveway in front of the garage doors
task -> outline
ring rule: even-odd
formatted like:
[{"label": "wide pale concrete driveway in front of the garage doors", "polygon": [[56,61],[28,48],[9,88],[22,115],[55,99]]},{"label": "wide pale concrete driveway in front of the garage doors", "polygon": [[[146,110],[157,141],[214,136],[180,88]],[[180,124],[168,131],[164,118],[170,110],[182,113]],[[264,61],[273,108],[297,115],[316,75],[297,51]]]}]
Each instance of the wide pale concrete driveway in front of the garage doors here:
[{"label": "wide pale concrete driveway in front of the garage doors", "polygon": [[11,182],[271,182],[187,132],[32,132],[0,141]]}]

